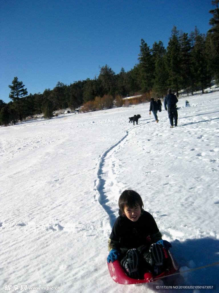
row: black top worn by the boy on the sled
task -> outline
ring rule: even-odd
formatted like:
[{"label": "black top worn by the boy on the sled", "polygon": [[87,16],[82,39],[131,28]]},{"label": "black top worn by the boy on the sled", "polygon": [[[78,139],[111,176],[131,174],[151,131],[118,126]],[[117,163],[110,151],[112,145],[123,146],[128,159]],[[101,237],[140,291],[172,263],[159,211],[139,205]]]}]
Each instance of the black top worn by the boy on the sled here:
[{"label": "black top worn by the boy on the sled", "polygon": [[152,236],[152,242],[162,239],[157,224],[149,212],[143,211],[136,222],[132,222],[126,216],[119,216],[109,236],[109,250],[147,245],[150,243],[148,236]]}]

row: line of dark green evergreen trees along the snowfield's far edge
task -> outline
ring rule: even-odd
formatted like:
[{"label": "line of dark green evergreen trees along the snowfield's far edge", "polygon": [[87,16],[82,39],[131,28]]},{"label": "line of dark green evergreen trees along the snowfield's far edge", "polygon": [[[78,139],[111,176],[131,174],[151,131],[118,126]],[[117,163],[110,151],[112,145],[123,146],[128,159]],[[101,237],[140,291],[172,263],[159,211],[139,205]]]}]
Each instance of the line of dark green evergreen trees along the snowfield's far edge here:
[{"label": "line of dark green evergreen trees along the snowfield's far edge", "polygon": [[106,64],[94,79],[74,81],[70,85],[58,82],[52,90],[48,88],[33,95],[28,95],[25,85],[15,77],[9,85],[12,101],[6,104],[0,100],[1,125],[15,124],[41,113],[51,118],[54,110],[75,110],[83,104],[92,104],[93,110],[110,108],[114,99],[121,106],[122,98],[140,93],[164,97],[168,88],[177,96],[181,90],[192,95],[198,90],[204,93],[212,79],[219,83],[219,0],[211,3],[216,8],[209,11],[211,28],[206,34],[201,34],[197,27],[188,34],[174,26],[166,49],[161,41],[154,42],[150,49],[142,39],[139,62],[130,71],[121,68],[115,74]]}]

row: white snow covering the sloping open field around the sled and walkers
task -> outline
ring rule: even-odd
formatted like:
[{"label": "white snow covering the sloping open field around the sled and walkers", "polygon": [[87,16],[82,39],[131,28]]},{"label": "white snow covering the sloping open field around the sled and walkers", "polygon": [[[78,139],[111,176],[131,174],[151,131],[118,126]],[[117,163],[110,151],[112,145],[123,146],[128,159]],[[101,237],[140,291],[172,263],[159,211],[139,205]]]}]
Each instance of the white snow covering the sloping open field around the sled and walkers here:
[{"label": "white snow covering the sloping open field around the sled and walkers", "polygon": [[[219,92],[182,96],[178,107],[175,128],[164,107],[156,123],[149,103],[0,127],[1,292],[153,292],[108,272],[107,241],[127,188],[142,196],[181,272],[219,261]],[[156,282],[219,292],[218,275],[214,265]]]}]

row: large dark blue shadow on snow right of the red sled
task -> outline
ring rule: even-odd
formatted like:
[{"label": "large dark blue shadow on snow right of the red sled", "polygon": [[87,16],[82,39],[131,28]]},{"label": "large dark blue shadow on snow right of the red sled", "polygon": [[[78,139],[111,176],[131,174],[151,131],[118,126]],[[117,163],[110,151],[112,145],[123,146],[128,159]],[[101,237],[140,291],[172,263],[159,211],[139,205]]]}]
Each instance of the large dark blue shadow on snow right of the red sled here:
[{"label": "large dark blue shadow on snow right of the red sled", "polygon": [[[205,265],[217,263],[219,261],[219,240],[212,238],[187,239],[180,242],[175,239],[172,242],[171,252],[180,267],[189,269],[198,268]],[[175,275],[163,279],[165,285],[177,283],[178,285],[216,285],[219,292],[219,265],[194,270],[180,275]],[[174,281],[173,281],[174,280]],[[173,291],[170,291],[173,292]],[[183,292],[180,290],[180,292]],[[191,293],[193,290],[186,290]],[[202,291],[201,291],[202,292]],[[205,293],[212,292],[205,290]]]}]

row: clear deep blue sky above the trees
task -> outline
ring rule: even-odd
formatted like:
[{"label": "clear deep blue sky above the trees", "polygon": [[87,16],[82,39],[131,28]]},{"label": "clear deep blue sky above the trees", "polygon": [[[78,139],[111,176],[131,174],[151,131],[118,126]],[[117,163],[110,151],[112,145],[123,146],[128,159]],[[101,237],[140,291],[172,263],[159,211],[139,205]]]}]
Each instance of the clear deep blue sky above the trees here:
[{"label": "clear deep blue sky above the trees", "polygon": [[93,79],[105,64],[129,71],[141,39],[167,47],[173,25],[206,33],[210,9],[211,0],[1,0],[0,99],[10,101],[15,76],[34,94]]}]

